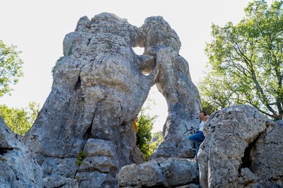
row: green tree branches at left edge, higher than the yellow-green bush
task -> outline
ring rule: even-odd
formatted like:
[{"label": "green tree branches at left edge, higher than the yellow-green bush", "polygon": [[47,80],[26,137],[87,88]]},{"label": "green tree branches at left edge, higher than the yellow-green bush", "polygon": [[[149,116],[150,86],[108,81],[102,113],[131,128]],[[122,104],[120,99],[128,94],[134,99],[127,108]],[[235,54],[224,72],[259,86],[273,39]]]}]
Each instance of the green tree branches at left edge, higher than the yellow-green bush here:
[{"label": "green tree branches at left edge, higher than the yellow-green bush", "polygon": [[9,94],[11,84],[18,83],[18,78],[23,76],[20,53],[16,51],[16,46],[7,46],[0,40],[0,97]]}]

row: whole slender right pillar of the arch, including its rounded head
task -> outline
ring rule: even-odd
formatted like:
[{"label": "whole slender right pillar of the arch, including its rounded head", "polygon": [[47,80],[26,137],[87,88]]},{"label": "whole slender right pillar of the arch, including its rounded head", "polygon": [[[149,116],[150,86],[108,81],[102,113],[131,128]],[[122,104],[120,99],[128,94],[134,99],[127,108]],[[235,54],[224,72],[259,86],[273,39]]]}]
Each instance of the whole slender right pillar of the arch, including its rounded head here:
[{"label": "whole slender right pillar of the arch, including its rounded head", "polygon": [[[139,46],[144,47],[140,59],[156,57],[160,71],[156,86],[168,104],[168,117],[163,127],[164,141],[151,158],[192,157],[194,151],[187,136],[200,122],[201,102],[190,78],[187,61],[178,54],[181,46],[179,37],[162,17],[150,17],[139,28]],[[150,65],[151,61],[146,63]]]}]

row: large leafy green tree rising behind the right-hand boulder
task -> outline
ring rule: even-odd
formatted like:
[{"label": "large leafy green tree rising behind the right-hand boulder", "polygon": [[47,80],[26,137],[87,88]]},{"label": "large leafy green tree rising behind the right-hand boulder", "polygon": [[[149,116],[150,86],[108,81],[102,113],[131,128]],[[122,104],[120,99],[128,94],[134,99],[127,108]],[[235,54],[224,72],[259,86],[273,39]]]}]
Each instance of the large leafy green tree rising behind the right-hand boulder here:
[{"label": "large leafy green tree rising behind the right-hand boulder", "polygon": [[205,101],[218,108],[248,103],[282,119],[282,4],[253,1],[238,24],[212,24],[213,40],[205,49],[209,73],[199,84]]}]

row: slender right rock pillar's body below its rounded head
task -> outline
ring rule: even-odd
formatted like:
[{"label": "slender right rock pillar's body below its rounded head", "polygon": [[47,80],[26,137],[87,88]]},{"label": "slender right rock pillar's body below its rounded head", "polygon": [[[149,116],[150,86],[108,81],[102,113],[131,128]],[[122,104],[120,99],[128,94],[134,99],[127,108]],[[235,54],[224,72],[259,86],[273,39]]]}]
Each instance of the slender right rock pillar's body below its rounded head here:
[{"label": "slender right rock pillar's body below its rounded head", "polygon": [[156,61],[162,62],[156,86],[166,98],[168,117],[163,127],[164,141],[151,158],[193,157],[195,151],[187,136],[200,124],[200,95],[183,57],[169,47],[159,49],[156,56]]}]

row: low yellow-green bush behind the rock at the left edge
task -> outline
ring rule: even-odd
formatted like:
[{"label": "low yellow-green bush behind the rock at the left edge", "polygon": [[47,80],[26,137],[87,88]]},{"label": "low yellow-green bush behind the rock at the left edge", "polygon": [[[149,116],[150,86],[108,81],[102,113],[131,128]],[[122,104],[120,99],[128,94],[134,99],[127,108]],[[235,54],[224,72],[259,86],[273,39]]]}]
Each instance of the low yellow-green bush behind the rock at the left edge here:
[{"label": "low yellow-green bush behind the rock at the left edge", "polygon": [[0,116],[12,131],[24,135],[35,122],[39,109],[39,104],[36,102],[30,102],[25,109],[0,105]]}]

